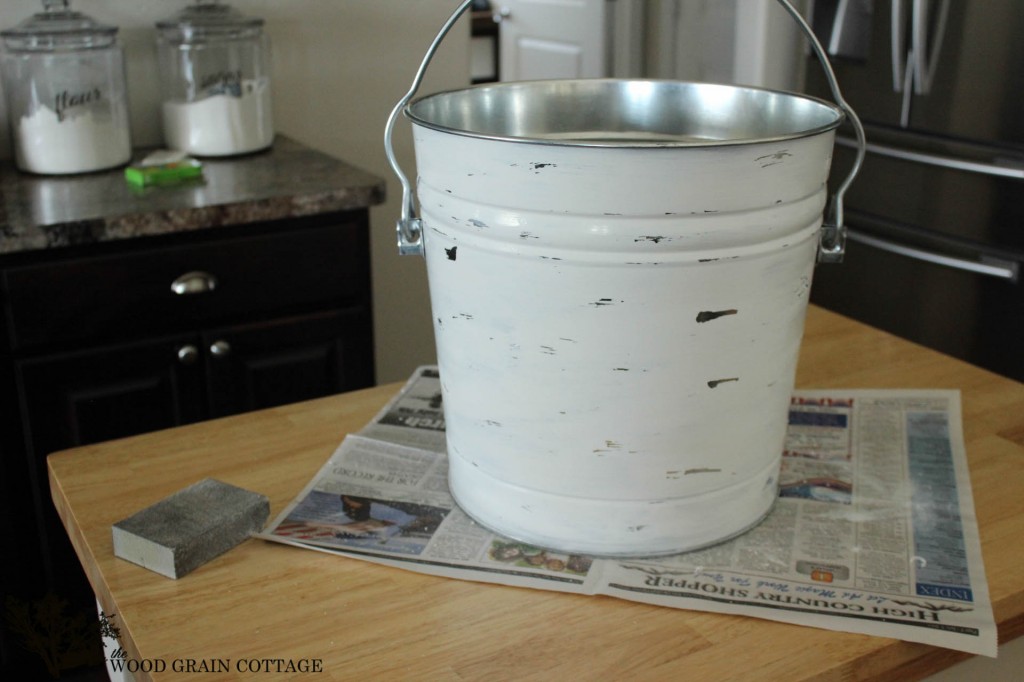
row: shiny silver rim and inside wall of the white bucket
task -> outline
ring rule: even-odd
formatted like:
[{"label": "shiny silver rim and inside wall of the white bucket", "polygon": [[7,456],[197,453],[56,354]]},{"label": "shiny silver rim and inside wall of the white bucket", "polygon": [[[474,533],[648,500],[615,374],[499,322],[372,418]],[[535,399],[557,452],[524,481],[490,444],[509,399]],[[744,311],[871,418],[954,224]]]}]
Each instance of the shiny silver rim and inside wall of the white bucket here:
[{"label": "shiny silver rim and inside wall of the white bucket", "polygon": [[[557,92],[557,96],[567,98],[577,96],[580,93],[586,93],[588,90],[599,90],[600,93],[614,93],[616,91],[621,92],[632,90],[642,94],[662,94],[663,98],[665,96],[665,91],[675,91],[674,94],[677,96],[682,95],[684,99],[687,96],[696,96],[700,94],[708,95],[714,99],[715,95],[718,95],[719,98],[721,98],[723,94],[729,93],[732,96],[741,98],[746,105],[760,105],[762,108],[769,109],[777,109],[779,103],[788,105],[793,108],[794,111],[799,112],[802,116],[806,116],[807,121],[806,126],[802,128],[799,126],[792,126],[793,129],[782,127],[781,129],[771,130],[771,126],[767,126],[767,129],[764,130],[763,134],[754,134],[745,137],[692,136],[680,133],[664,133],[658,135],[648,130],[639,130],[639,132],[627,131],[626,133],[622,133],[623,135],[641,135],[634,137],[594,136],[593,134],[590,136],[580,137],[574,136],[574,133],[571,132],[551,132],[547,133],[549,136],[540,136],[536,133],[519,134],[518,131],[512,129],[502,130],[503,123],[501,120],[502,117],[500,116],[502,112],[498,112],[499,116],[495,117],[490,116],[490,114],[495,114],[495,112],[474,113],[466,109],[467,104],[472,105],[474,103],[485,103],[488,106],[493,106],[496,98],[501,99],[504,97],[511,101],[516,96],[519,96],[520,101],[517,102],[516,108],[517,111],[519,111],[523,109],[520,106],[520,104],[523,103],[521,101],[522,95],[532,97],[544,95],[550,96],[552,93]],[[591,94],[593,94],[593,92],[591,92]],[[497,97],[488,95],[497,95]],[[566,101],[568,101],[568,99],[566,99]],[[575,101],[573,101],[573,103],[575,103]],[[632,105],[636,102],[629,103]],[[462,105],[461,109],[460,105]],[[478,106],[478,109],[482,109],[482,106]],[[581,109],[581,106],[573,106],[569,111],[563,113],[573,116]],[[606,108],[598,109],[602,110],[602,113],[606,114],[606,112],[603,111]],[[630,106],[628,109],[635,110],[635,106]],[[846,118],[845,112],[840,106],[829,101],[804,93],[791,92],[787,90],[703,81],[632,78],[544,79],[480,83],[464,88],[453,88],[423,95],[409,102],[404,106],[403,113],[406,117],[415,125],[464,137],[517,142],[523,144],[571,147],[596,146],[610,148],[692,148],[772,143],[813,137],[815,135],[835,130]],[[544,112],[544,114],[549,117],[554,113],[555,112],[550,111]],[[773,114],[774,112],[771,111],[767,113]],[[474,114],[476,114],[476,119],[472,119]],[[636,111],[632,111],[629,115],[635,116],[636,114]],[[735,112],[733,112],[733,114],[735,114]],[[748,123],[755,123],[756,125],[760,125],[762,128],[765,127],[766,123],[769,123],[764,119],[759,119],[750,111],[744,112],[743,114],[748,119],[750,119]],[[639,119],[641,119],[641,127],[650,123],[648,120],[649,118],[649,116],[639,117]],[[679,117],[678,120],[670,123],[679,125],[683,122],[683,119],[684,117]],[[778,122],[776,121],[775,123],[777,124]],[[604,135],[604,133],[602,133],[602,135]],[[643,137],[642,135],[650,136]]]}]

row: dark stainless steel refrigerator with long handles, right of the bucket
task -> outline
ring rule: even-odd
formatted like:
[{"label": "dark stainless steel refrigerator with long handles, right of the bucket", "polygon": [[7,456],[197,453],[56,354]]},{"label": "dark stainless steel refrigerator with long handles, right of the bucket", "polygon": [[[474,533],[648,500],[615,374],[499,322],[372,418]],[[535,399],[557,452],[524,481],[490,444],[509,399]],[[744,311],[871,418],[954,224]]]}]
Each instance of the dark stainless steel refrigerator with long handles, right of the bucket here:
[{"label": "dark stainless steel refrigerator with long handles, right of the bucket", "polygon": [[[812,4],[868,142],[812,301],[1024,381],[1024,0]],[[807,91],[829,98],[813,57]]]}]

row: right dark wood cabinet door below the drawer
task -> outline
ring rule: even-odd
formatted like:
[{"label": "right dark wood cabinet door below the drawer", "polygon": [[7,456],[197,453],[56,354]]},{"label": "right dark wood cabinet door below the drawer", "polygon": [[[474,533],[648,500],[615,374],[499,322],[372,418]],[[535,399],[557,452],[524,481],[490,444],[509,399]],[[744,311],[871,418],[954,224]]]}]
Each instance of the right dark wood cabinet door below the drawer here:
[{"label": "right dark wood cabinet door below the drawer", "polygon": [[371,326],[359,306],[205,332],[210,416],[372,386]]}]

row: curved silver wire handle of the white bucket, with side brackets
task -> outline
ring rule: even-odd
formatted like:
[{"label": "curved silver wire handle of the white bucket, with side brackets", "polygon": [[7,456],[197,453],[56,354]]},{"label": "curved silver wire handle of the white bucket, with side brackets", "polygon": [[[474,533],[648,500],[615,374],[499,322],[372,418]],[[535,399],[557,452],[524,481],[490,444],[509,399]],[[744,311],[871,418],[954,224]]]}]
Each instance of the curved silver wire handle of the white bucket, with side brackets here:
[{"label": "curved silver wire handle of the white bucket, with side brackets", "polygon": [[[843,98],[843,94],[839,89],[839,82],[836,80],[836,72],[833,71],[831,62],[828,61],[828,56],[825,54],[824,48],[821,47],[817,36],[814,35],[814,31],[800,12],[790,4],[788,0],[777,0],[777,2],[793,17],[810,42],[814,54],[817,56],[818,61],[821,62],[822,69],[824,69],[825,78],[828,80],[828,87],[831,88],[833,98],[839,108],[843,110],[843,113],[846,114],[857,136],[856,160],[846,179],[843,180],[843,183],[840,184],[833,195],[829,216],[821,226],[821,239],[818,243],[818,261],[823,263],[838,263],[843,260],[843,253],[846,249],[846,225],[843,222],[843,196],[850,188],[857,173],[860,172],[860,167],[864,161],[864,153],[867,147],[867,141],[864,137],[864,127],[861,125],[856,112]],[[394,130],[394,123],[398,115],[410,100],[416,96],[417,90],[420,89],[420,84],[423,82],[423,76],[427,72],[427,67],[430,66],[430,60],[433,59],[434,53],[440,46],[441,41],[444,40],[449,31],[459,20],[459,17],[469,9],[471,4],[473,4],[473,0],[463,0],[441,27],[440,31],[438,31],[433,42],[430,43],[430,47],[427,48],[426,54],[423,55],[420,68],[413,78],[412,87],[410,87],[406,96],[399,99],[398,103],[391,110],[391,114],[387,119],[387,125],[384,127],[384,151],[387,154],[387,160],[391,165],[391,169],[401,182],[401,217],[398,219],[396,225],[398,253],[401,255],[423,255],[423,221],[416,215],[416,207],[413,204],[413,186],[409,178],[401,171],[398,160],[394,156],[394,148],[391,144],[391,133]]]}]

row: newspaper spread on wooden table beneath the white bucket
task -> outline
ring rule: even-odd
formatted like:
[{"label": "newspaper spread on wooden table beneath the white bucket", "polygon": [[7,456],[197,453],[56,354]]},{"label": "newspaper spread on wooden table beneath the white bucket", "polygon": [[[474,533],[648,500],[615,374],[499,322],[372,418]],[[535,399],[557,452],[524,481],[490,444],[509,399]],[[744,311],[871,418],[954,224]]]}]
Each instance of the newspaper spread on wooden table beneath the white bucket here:
[{"label": "newspaper spread on wooden table beneath the white bucket", "polygon": [[436,368],[347,436],[260,537],[419,572],[750,615],[994,656],[955,390],[799,391],[752,530],[649,559],[497,536],[453,501]]}]

